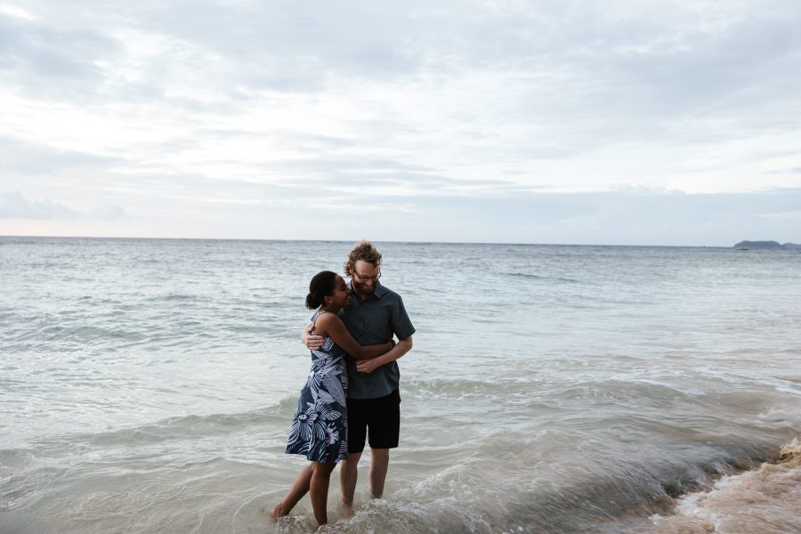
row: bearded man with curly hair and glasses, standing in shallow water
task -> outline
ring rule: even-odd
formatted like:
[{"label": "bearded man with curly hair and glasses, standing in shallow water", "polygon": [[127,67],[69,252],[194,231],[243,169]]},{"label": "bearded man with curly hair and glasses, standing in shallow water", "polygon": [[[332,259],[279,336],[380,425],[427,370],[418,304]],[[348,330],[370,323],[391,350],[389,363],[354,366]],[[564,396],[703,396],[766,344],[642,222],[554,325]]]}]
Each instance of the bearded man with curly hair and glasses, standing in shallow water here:
[{"label": "bearded man with curly hair and glasses, standing in shallow water", "polygon": [[[412,348],[415,328],[403,307],[401,296],[384,287],[381,253],[369,241],[353,247],[344,264],[351,277],[351,298],[341,312],[351,335],[362,345],[386,343],[392,335],[398,343],[372,360],[348,358],[348,459],[339,468],[339,490],[345,506],[353,506],[358,465],[365,438],[370,445],[370,491],[374,498],[384,495],[389,451],[398,447],[401,430],[401,378],[398,360]],[[303,332],[303,344],[314,350],[322,338]]]}]

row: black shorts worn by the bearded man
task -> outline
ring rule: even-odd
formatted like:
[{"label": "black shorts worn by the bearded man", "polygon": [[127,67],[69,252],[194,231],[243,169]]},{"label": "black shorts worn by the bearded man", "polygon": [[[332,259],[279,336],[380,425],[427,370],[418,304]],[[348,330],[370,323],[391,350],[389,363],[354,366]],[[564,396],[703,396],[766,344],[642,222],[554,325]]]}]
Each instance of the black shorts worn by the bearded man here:
[{"label": "black shorts worn by the bearded man", "polygon": [[348,399],[348,452],[364,450],[369,432],[371,449],[394,449],[401,433],[401,393],[377,399]]}]

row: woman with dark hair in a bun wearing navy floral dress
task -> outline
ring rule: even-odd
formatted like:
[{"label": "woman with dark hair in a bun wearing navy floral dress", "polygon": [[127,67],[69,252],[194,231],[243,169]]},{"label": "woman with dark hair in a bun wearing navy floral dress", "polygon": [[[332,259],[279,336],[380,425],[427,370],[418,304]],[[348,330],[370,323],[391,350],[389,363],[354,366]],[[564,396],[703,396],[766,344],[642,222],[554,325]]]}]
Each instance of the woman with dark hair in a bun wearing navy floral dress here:
[{"label": "woman with dark hair in a bun wearing navy floral dress", "polygon": [[336,272],[322,271],[309,284],[306,307],[316,310],[312,325],[314,333],[323,337],[323,345],[312,351],[312,370],[297,401],[286,452],[303,454],[311,464],[303,468],[292,489],[272,509],[270,514],[275,519],[289,514],[309,492],[314,518],[321,525],[328,522],[328,481],[336,462],[348,456],[345,408],[348,376],[344,355],[368,360],[389,351],[394,344],[363,347],[353,339],[336,315],[347,305],[350,295],[344,279]]}]

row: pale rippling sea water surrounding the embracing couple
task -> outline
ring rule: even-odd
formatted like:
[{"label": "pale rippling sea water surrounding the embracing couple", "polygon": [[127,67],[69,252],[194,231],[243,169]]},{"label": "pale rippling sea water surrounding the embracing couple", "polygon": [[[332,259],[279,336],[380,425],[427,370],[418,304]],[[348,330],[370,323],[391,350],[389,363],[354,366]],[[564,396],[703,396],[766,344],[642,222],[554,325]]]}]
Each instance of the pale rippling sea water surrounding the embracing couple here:
[{"label": "pale rippling sea water surrounding the embracing couple", "polygon": [[[801,254],[376,245],[417,328],[401,446],[351,518],[335,472],[324,530],[801,531],[801,467],[763,465],[801,435]],[[315,530],[267,511],[351,246],[0,238],[0,532]]]}]

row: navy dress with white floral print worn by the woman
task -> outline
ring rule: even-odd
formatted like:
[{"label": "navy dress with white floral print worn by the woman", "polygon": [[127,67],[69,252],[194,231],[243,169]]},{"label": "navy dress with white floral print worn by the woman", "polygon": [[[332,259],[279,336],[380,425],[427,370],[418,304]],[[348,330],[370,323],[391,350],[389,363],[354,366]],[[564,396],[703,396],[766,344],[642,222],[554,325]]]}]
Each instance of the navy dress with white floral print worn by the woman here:
[{"label": "navy dress with white floral print worn by the woman", "polygon": [[[314,323],[324,310],[312,316]],[[289,431],[287,454],[303,454],[314,462],[332,463],[348,457],[345,352],[326,336],[312,351],[312,370],[297,401]]]}]

